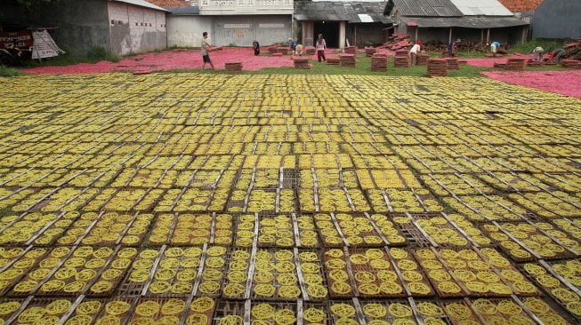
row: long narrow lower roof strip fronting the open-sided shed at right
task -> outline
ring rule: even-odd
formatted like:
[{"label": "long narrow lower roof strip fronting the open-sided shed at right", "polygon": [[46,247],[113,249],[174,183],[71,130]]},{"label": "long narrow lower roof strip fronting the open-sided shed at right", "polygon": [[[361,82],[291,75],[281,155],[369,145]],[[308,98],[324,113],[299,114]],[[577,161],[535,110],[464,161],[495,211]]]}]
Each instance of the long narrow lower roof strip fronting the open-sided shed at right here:
[{"label": "long narrow lower roof strip fronting the open-sided shed at right", "polygon": [[514,17],[418,17],[410,18],[419,28],[506,28],[525,26],[529,23]]}]

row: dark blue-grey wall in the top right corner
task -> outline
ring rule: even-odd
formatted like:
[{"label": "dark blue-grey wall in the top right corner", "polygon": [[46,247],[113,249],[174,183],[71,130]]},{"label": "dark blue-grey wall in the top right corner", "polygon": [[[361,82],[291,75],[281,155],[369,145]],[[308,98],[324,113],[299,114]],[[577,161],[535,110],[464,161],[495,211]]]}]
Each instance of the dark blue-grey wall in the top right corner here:
[{"label": "dark blue-grey wall in the top right corner", "polygon": [[581,1],[545,0],[533,17],[533,38],[581,38]]}]

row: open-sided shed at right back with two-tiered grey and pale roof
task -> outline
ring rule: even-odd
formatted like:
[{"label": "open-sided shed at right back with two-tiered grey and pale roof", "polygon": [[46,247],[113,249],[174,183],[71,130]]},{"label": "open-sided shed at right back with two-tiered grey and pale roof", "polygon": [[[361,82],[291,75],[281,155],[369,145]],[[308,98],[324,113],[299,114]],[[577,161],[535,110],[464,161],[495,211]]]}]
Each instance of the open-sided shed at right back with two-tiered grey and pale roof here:
[{"label": "open-sided shed at right back with two-tiered grey and pale roof", "polygon": [[388,0],[383,13],[396,33],[414,41],[514,44],[526,40],[529,28],[496,0]]}]

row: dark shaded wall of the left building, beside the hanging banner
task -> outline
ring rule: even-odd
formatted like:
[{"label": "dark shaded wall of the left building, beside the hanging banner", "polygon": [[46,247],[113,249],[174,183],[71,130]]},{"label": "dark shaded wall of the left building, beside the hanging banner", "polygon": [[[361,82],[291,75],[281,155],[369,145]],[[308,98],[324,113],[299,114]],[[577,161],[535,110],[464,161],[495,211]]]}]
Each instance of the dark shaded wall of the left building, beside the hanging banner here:
[{"label": "dark shaded wall of the left building, beside the hanging banner", "polygon": [[54,42],[72,55],[85,55],[93,47],[109,50],[107,1],[61,0],[44,5],[37,20],[56,26],[50,32]]}]

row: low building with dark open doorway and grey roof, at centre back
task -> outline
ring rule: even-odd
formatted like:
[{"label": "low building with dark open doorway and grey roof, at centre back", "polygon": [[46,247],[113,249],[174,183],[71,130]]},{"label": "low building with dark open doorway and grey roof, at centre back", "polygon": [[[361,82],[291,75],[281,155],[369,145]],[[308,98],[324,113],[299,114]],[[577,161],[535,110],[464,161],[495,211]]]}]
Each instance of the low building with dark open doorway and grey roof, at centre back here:
[{"label": "low building with dark open doorway and grey roof, at centre back", "polygon": [[322,34],[328,47],[383,44],[391,34],[391,20],[383,15],[385,2],[295,2],[295,36],[312,46]]}]

